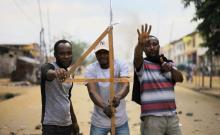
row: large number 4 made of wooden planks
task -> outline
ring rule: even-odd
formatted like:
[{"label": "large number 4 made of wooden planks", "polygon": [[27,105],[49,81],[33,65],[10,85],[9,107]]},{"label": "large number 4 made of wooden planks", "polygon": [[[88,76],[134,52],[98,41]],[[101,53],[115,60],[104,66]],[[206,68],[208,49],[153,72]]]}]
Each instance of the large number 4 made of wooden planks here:
[{"label": "large number 4 made of wooden planks", "polygon": [[[101,42],[101,40],[108,34],[109,42],[109,65],[110,65],[110,78],[97,78],[97,79],[67,79],[66,82],[110,82],[110,101],[112,101],[115,92],[114,92],[114,83],[115,82],[128,82],[128,78],[114,78],[114,48],[113,48],[113,27],[109,26],[105,31],[96,39],[96,41],[87,49],[83,55],[70,67],[68,71],[68,76],[74,74],[75,70],[79,65],[82,64],[83,60],[92,52],[92,50]],[[115,108],[110,102],[111,110],[113,112],[111,118],[111,135],[115,135]]]}]

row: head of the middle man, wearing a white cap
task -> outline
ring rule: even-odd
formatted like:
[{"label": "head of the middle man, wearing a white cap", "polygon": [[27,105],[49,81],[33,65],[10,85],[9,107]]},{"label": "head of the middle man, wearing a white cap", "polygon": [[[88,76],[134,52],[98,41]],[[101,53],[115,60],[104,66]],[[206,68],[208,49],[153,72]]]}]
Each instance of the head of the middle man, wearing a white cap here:
[{"label": "head of the middle man, wearing a white cap", "polygon": [[109,48],[104,42],[100,42],[94,49],[96,59],[98,60],[101,68],[107,69],[109,67]]}]

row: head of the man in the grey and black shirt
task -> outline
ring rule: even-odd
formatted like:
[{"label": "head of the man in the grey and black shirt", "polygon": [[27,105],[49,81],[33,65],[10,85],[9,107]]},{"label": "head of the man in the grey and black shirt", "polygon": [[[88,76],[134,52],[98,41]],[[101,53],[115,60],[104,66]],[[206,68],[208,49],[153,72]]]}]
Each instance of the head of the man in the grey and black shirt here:
[{"label": "head of the man in the grey and black shirt", "polygon": [[56,63],[62,68],[68,68],[72,63],[72,45],[67,40],[59,40],[54,45]]}]

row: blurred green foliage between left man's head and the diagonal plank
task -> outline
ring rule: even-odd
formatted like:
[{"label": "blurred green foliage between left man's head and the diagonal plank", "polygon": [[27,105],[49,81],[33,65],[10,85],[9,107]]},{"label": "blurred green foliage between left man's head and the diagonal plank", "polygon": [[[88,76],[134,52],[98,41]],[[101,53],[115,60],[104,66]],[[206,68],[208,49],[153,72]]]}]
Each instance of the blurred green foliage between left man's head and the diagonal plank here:
[{"label": "blurred green foliage between left man's head and the diagonal plank", "polygon": [[[85,42],[74,42],[71,41],[72,43],[72,51],[73,51],[73,63],[76,62],[76,60],[82,56],[84,50],[86,49],[87,44]],[[86,60],[84,60],[83,64],[86,63]]]}]

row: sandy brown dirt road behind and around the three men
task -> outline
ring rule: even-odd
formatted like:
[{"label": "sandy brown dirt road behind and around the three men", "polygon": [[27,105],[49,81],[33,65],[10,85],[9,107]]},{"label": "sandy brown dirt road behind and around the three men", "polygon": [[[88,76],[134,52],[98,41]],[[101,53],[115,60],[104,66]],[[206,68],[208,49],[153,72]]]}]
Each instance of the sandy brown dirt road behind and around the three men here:
[{"label": "sandy brown dirt road behind and around the three men", "polygon": [[[5,92],[17,92],[21,95],[0,102],[0,135],[8,135],[9,132],[41,134],[41,130],[35,129],[40,124],[41,117],[40,87],[0,86],[0,93]],[[219,135],[219,99],[183,87],[176,87],[176,97],[183,135]],[[130,132],[131,135],[139,135],[140,108],[130,99],[131,92],[126,99]],[[88,135],[93,104],[85,86],[74,86],[72,101],[81,132]]]}]

